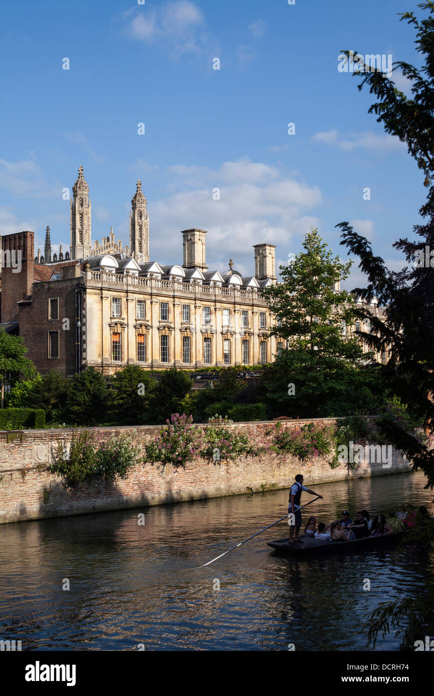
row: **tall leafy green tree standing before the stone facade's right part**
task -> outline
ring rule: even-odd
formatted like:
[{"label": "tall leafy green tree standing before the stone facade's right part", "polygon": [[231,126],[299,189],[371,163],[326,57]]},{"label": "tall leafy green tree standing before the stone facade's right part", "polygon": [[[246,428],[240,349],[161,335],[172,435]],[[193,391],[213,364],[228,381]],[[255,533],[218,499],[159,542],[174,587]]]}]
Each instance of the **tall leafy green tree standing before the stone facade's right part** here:
[{"label": "tall leafy green tree standing before the stone facade's right part", "polygon": [[366,318],[366,313],[348,292],[332,290],[348,278],[352,262],[333,257],[317,230],[307,233],[303,248],[292,263],[280,267],[282,282],[263,291],[277,317],[271,333],[288,341],[288,350],[265,367],[263,383],[274,409],[293,409],[292,399],[300,409],[297,415],[314,416],[324,400],[336,399],[339,390],[345,393],[355,366],[373,356],[364,354],[357,336],[350,335],[355,319]]}]

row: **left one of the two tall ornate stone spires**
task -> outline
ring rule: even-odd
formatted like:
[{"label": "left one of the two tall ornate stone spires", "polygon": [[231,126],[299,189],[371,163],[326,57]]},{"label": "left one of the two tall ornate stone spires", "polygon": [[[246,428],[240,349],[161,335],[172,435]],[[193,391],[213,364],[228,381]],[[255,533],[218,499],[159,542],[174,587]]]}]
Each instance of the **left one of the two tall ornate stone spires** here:
[{"label": "left one of the two tall ornate stone spires", "polygon": [[71,258],[81,259],[91,255],[91,201],[89,187],[79,166],[78,178],[72,187],[70,202]]}]

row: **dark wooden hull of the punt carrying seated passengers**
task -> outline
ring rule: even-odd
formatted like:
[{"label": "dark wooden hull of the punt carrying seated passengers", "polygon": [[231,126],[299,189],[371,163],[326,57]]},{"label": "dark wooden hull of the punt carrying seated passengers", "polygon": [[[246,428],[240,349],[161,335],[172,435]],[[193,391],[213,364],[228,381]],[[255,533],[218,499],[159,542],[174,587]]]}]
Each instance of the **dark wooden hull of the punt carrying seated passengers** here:
[{"label": "dark wooden hull of the punt carrying seated passengers", "polygon": [[382,548],[389,544],[396,544],[405,536],[403,532],[392,532],[381,537],[365,537],[364,539],[355,539],[355,541],[316,541],[300,536],[298,543],[289,544],[288,539],[279,539],[278,541],[268,541],[267,545],[274,548],[275,551],[284,555],[310,557],[311,555],[332,555],[333,553],[349,553],[350,551],[367,551],[369,549]]}]

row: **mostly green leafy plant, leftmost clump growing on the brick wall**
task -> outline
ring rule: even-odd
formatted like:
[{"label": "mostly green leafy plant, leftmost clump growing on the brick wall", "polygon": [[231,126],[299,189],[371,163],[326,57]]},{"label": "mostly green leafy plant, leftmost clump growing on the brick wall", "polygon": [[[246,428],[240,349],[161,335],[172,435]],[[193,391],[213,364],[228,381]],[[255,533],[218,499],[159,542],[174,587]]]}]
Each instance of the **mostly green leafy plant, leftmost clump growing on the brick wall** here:
[{"label": "mostly green leafy plant, leftmost clump growing on the brick wall", "polygon": [[68,457],[63,442],[58,441],[47,470],[60,476],[65,488],[74,489],[95,479],[125,478],[140,456],[141,450],[133,445],[130,435],[112,435],[104,442],[88,430],[75,430]]}]

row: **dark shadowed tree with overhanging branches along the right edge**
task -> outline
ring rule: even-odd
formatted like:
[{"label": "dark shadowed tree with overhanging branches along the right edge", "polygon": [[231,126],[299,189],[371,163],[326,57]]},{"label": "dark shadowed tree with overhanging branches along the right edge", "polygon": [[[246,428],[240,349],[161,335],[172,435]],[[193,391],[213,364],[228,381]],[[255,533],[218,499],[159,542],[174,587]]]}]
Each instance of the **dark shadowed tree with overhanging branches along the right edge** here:
[{"label": "dark shadowed tree with overhanging branches along the right edge", "polygon": [[[368,84],[371,94],[378,101],[371,105],[369,113],[375,113],[385,130],[404,142],[408,152],[424,173],[424,185],[428,188],[426,203],[421,207],[422,216],[429,216],[424,226],[415,226],[419,239],[408,242],[398,239],[394,246],[405,254],[407,263],[414,262],[416,252],[425,247],[434,248],[434,2],[419,4],[428,10],[428,17],[421,22],[414,13],[401,13],[416,29],[415,45],[424,63],[414,68],[410,63],[398,61],[400,68],[411,80],[412,97],[406,97],[395,84],[381,72],[355,73],[362,79],[361,90]],[[359,268],[367,276],[366,288],[357,288],[367,299],[374,294],[387,304],[386,322],[378,322],[378,336],[366,337],[373,347],[390,347],[391,357],[385,372],[389,390],[406,404],[412,416],[423,422],[427,433],[434,429],[434,280],[431,259],[404,267],[401,271],[389,271],[382,258],[373,254],[368,240],[352,229],[348,222],[339,223],[342,230],[341,244],[348,253],[359,257]],[[417,254],[419,255],[419,254]],[[427,478],[426,488],[434,488],[434,450],[424,438],[408,432],[399,418],[383,419],[382,430],[390,443],[402,450],[412,461],[414,468],[421,468]],[[428,528],[434,539],[433,526]],[[404,628],[401,628],[404,626]],[[366,637],[375,644],[379,633],[385,635],[391,629],[401,631],[401,649],[414,649],[414,639],[431,635],[433,631],[433,582],[428,580],[416,598],[398,599],[378,607],[364,624]]]}]

